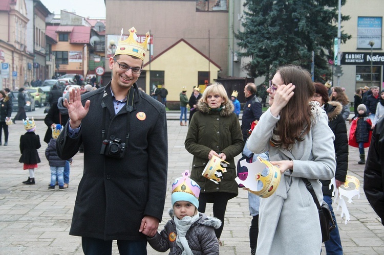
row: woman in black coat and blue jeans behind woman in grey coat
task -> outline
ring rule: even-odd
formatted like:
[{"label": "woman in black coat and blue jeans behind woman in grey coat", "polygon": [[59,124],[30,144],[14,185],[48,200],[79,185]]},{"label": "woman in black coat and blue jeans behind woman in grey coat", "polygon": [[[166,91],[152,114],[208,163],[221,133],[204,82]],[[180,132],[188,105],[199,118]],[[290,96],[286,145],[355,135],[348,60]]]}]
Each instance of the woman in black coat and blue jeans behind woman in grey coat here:
[{"label": "woman in black coat and blue jeans behind woman in grey coat", "polygon": [[[328,126],[331,128],[335,135],[335,141],[333,145],[335,147],[336,154],[336,187],[338,189],[342,184],[345,183],[347,170],[348,170],[348,136],[347,127],[343,118],[343,105],[337,101],[330,101],[328,97],[327,88],[322,83],[315,83],[315,95],[312,101],[317,101],[320,106],[327,112]],[[329,205],[333,221],[335,222],[335,229],[331,232],[330,240],[325,242],[325,248],[327,253],[343,254],[342,242],[337,227],[335,214],[332,208],[332,189],[329,188],[331,180],[320,180],[323,184],[323,195],[324,201]]]}]

